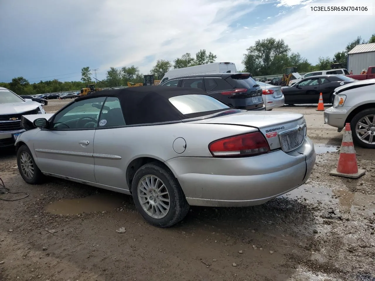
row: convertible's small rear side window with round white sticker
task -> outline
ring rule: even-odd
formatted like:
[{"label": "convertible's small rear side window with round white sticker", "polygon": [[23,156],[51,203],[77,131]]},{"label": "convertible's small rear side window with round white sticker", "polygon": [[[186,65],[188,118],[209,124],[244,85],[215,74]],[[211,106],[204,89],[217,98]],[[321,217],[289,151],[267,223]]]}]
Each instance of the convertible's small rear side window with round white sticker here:
[{"label": "convertible's small rear side window with round white sticker", "polygon": [[99,128],[125,125],[120,100],[117,97],[107,97],[99,117]]}]

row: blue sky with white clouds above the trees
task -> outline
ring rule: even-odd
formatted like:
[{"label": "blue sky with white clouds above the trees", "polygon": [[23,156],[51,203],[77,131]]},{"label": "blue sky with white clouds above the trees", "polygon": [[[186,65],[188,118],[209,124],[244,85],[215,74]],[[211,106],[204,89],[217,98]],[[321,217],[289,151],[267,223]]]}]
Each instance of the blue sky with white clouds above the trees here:
[{"label": "blue sky with white clouds above the trees", "polygon": [[98,79],[111,66],[148,74],[157,59],[199,49],[242,70],[246,49],[267,37],[316,64],[375,33],[375,13],[308,15],[306,4],[320,2],[375,7],[375,0],[0,0],[0,82],[78,81],[85,66],[98,69]]}]

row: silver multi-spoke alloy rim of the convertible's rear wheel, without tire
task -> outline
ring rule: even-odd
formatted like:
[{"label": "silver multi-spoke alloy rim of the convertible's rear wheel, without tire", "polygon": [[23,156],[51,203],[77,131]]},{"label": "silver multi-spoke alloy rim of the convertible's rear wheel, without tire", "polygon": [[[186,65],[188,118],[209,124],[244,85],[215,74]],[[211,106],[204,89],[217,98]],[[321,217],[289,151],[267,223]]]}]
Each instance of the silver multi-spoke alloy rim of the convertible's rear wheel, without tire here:
[{"label": "silver multi-spoke alloy rim of the convertible's rear wheel, without tire", "polygon": [[146,175],[138,183],[138,200],[152,218],[163,218],[170,206],[169,193],[164,183],[154,175]]}]

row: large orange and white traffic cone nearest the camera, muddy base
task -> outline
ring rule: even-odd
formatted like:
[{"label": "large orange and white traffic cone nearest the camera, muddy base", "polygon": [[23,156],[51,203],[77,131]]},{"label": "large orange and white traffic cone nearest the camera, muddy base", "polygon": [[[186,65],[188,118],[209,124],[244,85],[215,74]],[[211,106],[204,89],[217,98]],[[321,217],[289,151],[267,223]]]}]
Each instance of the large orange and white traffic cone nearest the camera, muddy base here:
[{"label": "large orange and white traffic cone nearest the camera, muddy base", "polygon": [[337,168],[332,170],[330,175],[356,179],[364,175],[365,172],[365,170],[358,169],[350,124],[347,123],[345,125],[344,136],[342,137],[339,162]]}]

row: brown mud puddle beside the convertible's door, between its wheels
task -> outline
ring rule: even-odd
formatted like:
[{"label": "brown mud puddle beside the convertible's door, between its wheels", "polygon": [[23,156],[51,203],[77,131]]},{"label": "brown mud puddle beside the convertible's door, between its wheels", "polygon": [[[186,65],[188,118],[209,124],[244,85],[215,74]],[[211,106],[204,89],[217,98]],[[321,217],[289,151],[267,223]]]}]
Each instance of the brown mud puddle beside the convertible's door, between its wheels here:
[{"label": "brown mud puddle beside the convertible's door, between its wheels", "polygon": [[122,202],[121,195],[98,193],[84,198],[59,200],[45,206],[45,210],[54,215],[77,215],[113,211],[121,207]]}]

